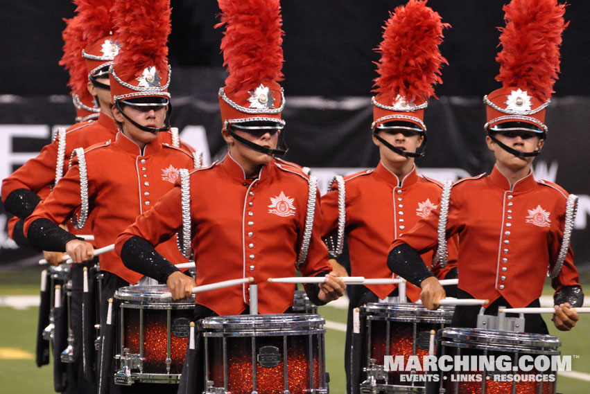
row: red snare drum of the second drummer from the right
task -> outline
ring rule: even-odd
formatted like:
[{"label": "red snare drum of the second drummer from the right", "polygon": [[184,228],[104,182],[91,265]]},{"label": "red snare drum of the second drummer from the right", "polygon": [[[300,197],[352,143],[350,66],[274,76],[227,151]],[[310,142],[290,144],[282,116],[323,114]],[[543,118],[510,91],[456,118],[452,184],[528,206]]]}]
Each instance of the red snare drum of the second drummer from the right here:
[{"label": "red snare drum of the second drummer from the right", "polygon": [[361,330],[364,330],[361,365],[365,373],[361,376],[365,381],[361,383],[361,393],[423,393],[426,379],[417,375],[424,375],[424,371],[387,372],[385,356],[404,356],[404,366],[408,357],[417,356],[422,365],[422,357],[428,355],[431,330],[449,325],[454,309],[443,306],[428,310],[411,303],[363,305],[360,312]]}]

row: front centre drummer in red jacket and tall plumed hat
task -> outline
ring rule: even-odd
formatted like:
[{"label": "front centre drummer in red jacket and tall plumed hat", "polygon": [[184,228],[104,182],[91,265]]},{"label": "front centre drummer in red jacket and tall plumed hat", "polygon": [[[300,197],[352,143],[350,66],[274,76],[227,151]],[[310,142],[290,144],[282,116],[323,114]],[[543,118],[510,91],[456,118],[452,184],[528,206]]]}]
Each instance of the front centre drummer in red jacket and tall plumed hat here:
[{"label": "front centre drummer in red jacket and tall plumed hat", "polygon": [[[293,305],[295,285],[267,279],[295,276],[298,269],[304,276],[327,276],[322,285],[306,286],[314,303],[327,303],[342,296],[345,285],[330,274],[315,179],[275,159],[286,152],[279,143],[285,125],[284,92],[277,82],[283,62],[279,1],[219,5],[229,71],[219,103],[229,152],[222,162],[183,175],[182,185],[119,236],[116,251],[127,267],[165,281],[173,298],[185,298],[194,283],[177,280],[177,269],[154,249],[182,229],[184,245],[195,256],[197,285],[252,276],[259,312],[283,313]],[[249,291],[243,285],[198,293],[194,317],[248,313]],[[204,388],[197,384],[198,393]]]}]

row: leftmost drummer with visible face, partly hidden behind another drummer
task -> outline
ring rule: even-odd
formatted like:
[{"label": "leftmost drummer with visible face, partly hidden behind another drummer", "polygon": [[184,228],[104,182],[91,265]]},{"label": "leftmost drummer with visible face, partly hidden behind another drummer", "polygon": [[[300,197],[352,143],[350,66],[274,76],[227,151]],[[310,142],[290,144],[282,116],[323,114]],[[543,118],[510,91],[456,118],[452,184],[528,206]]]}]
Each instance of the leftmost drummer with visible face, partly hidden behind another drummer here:
[{"label": "leftmost drummer with visible face, partly hidden behind another drummer", "polygon": [[[71,40],[64,46],[62,64],[71,64],[70,85],[80,89],[80,84],[87,86],[87,91],[94,97],[100,107],[100,114],[96,120],[84,120],[62,130],[56,134],[52,143],[46,145],[40,154],[28,160],[9,177],[3,179],[1,195],[6,211],[19,217],[15,223],[11,236],[17,243],[24,246],[27,241],[22,233],[24,219],[31,215],[35,206],[44,199],[51,187],[59,181],[67,171],[69,158],[77,147],[89,147],[95,143],[114,140],[117,128],[111,111],[110,80],[108,69],[121,49],[120,39],[112,32],[116,31],[112,21],[113,0],[74,1],[76,3],[76,21],[71,26]],[[71,37],[80,35],[78,37]],[[79,60],[74,62],[77,55],[85,62],[87,80],[80,82],[78,78]],[[76,68],[75,71],[73,68]],[[73,78],[76,75],[76,78]],[[172,130],[159,134],[162,142],[181,146],[177,132]],[[182,143],[185,150],[193,149]],[[51,261],[58,265],[61,256],[54,256]]]}]

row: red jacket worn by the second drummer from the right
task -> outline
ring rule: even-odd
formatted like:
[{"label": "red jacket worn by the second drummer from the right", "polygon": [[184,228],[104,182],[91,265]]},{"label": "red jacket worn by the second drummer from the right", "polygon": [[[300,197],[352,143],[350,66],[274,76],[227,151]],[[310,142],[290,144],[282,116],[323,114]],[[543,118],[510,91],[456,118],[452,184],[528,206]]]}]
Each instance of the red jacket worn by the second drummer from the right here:
[{"label": "red jacket worn by the second drummer from the right", "polygon": [[[391,278],[387,256],[392,240],[412,229],[421,217],[428,217],[440,204],[442,185],[433,179],[419,177],[416,168],[404,179],[388,170],[383,163],[374,170],[366,170],[345,177],[345,234],[348,240],[352,276]],[[338,183],[322,197],[324,219],[322,235],[330,235],[338,228]],[[433,251],[422,254],[426,266],[431,267]],[[440,278],[456,267],[457,246],[449,242],[449,264],[444,269],[437,265]],[[371,291],[385,298],[397,285],[367,285]],[[408,283],[406,295],[410,300],[420,298],[420,289]]]}]

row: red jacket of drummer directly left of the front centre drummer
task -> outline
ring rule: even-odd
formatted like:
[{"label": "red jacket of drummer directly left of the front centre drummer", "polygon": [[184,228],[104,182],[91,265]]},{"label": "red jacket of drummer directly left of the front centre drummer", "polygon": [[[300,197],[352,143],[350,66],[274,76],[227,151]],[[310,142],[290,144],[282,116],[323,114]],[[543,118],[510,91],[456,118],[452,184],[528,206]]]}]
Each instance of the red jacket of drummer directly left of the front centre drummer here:
[{"label": "red jacket of drummer directly left of the front centre drummer", "polygon": [[[97,247],[113,244],[138,215],[149,211],[159,197],[174,187],[180,168],[194,167],[193,156],[180,148],[154,141],[142,153],[121,133],[114,143],[89,147],[85,157],[89,200],[85,228],[90,226]],[[80,204],[80,170],[78,159],[74,158],[65,177],[25,221],[25,233],[33,221],[42,217],[56,224],[64,222]],[[186,261],[178,251],[175,237],[161,244],[158,251],[174,263]],[[127,269],[114,251],[101,255],[99,260],[101,270],[129,283],[135,284],[142,277]]]}]

